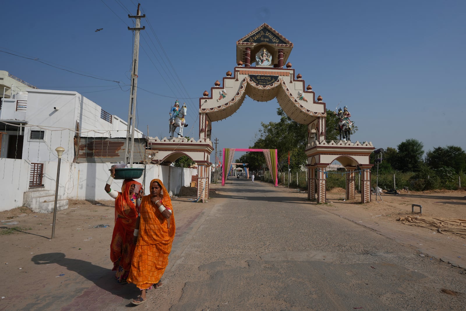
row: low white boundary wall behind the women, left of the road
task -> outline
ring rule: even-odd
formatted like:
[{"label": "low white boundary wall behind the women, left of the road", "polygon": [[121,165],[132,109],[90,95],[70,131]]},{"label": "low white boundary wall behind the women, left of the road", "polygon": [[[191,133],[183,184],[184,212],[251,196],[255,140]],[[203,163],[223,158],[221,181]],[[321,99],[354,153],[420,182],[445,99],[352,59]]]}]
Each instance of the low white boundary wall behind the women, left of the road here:
[{"label": "low white boundary wall behind the women, left of the road", "polygon": [[[44,187],[36,189],[55,191],[57,165],[57,161],[44,163],[42,178]],[[62,159],[58,194],[62,195],[62,199],[69,200],[111,200],[104,187],[112,165],[112,163],[69,163]],[[3,171],[0,170],[0,187],[3,189],[0,192],[0,211],[22,206],[24,192],[29,191],[30,162],[0,158],[0,167],[3,168]],[[142,168],[144,165],[137,164],[133,167]],[[156,178],[162,180],[168,191],[178,194],[181,186],[190,186],[191,176],[197,173],[198,170],[193,168],[148,165],[145,194],[149,194],[151,180]],[[142,183],[143,178],[144,174],[137,181]],[[111,188],[121,191],[122,183],[123,180],[114,180]]]}]

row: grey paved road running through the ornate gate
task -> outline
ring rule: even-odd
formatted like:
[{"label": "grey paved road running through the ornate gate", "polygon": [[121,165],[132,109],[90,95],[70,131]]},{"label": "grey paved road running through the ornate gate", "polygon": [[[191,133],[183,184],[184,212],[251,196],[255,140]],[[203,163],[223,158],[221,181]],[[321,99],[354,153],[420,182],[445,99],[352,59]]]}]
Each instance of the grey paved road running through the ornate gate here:
[{"label": "grey paved road running through the ornate gate", "polygon": [[[417,249],[329,213],[286,188],[244,179],[216,188],[215,198],[196,204],[190,213],[178,205],[175,216],[183,218],[177,219],[164,286],[150,290],[148,301],[135,308],[464,310],[462,269],[421,257]],[[44,285],[49,295],[36,295],[43,292],[37,290],[28,298],[31,303],[14,310],[133,307],[128,299],[137,290],[110,281],[107,252],[96,263],[59,252],[43,258],[37,254],[41,264],[85,269],[70,273],[66,286],[58,281]]]}]

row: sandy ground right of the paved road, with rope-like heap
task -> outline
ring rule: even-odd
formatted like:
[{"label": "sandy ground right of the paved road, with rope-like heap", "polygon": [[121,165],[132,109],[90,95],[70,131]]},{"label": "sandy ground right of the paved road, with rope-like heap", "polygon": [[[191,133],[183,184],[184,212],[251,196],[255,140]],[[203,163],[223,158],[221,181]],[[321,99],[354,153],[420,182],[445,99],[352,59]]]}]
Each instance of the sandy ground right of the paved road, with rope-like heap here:
[{"label": "sandy ground right of the paved road, with rope-like heap", "polygon": [[[372,194],[370,203],[344,200],[344,189],[327,193],[327,204],[317,205],[397,242],[416,247],[425,256],[466,268],[466,191],[435,190]],[[414,207],[412,204],[422,206]],[[410,217],[412,221],[399,221]]]}]

